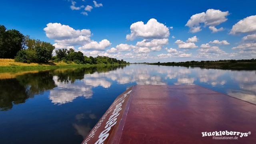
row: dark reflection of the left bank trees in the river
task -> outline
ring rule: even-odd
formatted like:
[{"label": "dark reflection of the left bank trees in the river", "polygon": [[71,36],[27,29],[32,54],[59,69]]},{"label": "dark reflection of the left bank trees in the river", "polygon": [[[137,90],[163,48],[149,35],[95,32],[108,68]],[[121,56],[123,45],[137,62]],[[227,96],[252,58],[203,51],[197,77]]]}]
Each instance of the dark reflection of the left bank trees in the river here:
[{"label": "dark reflection of the left bank trees in the river", "polygon": [[34,98],[34,95],[40,92],[52,90],[57,86],[54,76],[57,77],[57,82],[74,83],[76,80],[84,79],[84,74],[108,72],[124,67],[125,65],[106,65],[56,69],[2,79],[0,80],[0,110],[10,110],[14,104],[24,103],[28,98]]}]

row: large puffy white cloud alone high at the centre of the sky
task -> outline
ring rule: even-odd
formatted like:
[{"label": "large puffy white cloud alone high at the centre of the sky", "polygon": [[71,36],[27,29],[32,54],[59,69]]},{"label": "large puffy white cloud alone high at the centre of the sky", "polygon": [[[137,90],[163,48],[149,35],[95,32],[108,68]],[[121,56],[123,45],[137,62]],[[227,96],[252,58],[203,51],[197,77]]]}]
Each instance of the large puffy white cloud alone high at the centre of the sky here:
[{"label": "large puffy white cloud alone high at the centre of the sky", "polygon": [[127,40],[134,40],[136,37],[144,39],[163,39],[170,36],[169,28],[151,18],[146,24],[135,22],[130,26],[131,33],[126,35]]}]

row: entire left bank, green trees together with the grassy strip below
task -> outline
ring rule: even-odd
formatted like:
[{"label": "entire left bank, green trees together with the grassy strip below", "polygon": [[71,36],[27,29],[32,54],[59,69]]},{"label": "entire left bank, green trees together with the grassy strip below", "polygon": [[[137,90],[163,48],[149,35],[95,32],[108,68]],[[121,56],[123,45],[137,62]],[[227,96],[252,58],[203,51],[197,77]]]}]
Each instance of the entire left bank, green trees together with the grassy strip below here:
[{"label": "entire left bank, green trees together with the grassy strip below", "polygon": [[[72,48],[54,50],[55,46],[50,42],[32,39],[18,30],[6,30],[5,26],[0,25],[0,72],[130,64],[108,56],[84,56]],[[52,56],[54,52],[55,56]]]}]

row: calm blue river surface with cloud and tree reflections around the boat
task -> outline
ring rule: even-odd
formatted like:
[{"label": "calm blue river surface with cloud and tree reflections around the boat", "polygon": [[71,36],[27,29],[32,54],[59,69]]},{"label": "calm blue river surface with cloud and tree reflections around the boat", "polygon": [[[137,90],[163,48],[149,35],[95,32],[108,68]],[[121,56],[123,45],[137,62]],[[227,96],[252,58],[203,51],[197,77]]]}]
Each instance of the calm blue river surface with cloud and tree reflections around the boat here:
[{"label": "calm blue river surface with cloud and tree reflections around the boat", "polygon": [[80,144],[135,84],[196,84],[256,104],[256,71],[131,64],[0,73],[0,144]]}]

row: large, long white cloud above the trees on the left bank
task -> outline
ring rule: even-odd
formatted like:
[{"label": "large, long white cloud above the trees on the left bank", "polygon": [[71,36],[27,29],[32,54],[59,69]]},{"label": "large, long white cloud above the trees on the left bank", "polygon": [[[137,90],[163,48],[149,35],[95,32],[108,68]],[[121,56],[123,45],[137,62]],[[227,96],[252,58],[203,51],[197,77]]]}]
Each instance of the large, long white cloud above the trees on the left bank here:
[{"label": "large, long white cloud above the trees on the left bank", "polygon": [[44,28],[46,36],[55,40],[78,38],[79,36],[91,36],[91,31],[88,29],[74,30],[74,28],[60,23],[48,23],[46,26],[47,27]]}]

